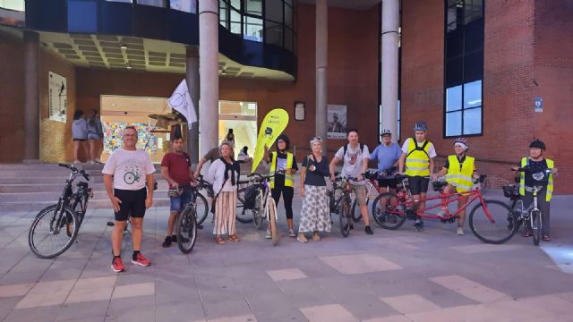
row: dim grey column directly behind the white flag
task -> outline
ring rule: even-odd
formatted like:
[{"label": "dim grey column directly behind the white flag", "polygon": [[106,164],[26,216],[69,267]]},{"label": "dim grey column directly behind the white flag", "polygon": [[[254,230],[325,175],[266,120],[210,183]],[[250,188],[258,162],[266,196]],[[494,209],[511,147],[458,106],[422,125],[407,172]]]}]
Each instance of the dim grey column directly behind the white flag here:
[{"label": "dim grey column directly behind the white flag", "polygon": [[[195,106],[195,113],[199,120],[200,80],[198,47],[187,47],[186,63],[185,80],[187,80],[189,96],[191,96],[193,106]],[[191,128],[187,128],[187,153],[191,157],[191,163],[197,164],[199,162],[199,123],[195,122],[190,124],[190,126]]]}]

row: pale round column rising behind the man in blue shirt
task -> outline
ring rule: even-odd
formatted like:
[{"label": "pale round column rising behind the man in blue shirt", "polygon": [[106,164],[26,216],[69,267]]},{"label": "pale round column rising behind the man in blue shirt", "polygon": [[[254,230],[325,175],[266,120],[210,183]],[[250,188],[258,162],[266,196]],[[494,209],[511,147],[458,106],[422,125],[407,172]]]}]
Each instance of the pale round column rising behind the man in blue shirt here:
[{"label": "pale round column rising behind the man in blue shirt", "polygon": [[382,128],[392,131],[392,138],[397,140],[399,0],[382,0],[381,10]]}]

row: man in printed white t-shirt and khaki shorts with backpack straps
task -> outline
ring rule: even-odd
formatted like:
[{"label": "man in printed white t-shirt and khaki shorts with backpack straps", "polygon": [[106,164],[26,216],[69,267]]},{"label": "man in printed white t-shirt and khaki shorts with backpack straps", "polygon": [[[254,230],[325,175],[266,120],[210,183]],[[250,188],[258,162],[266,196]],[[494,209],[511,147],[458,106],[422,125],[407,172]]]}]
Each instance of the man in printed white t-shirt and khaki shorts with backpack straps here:
[{"label": "man in printed white t-shirt and khaki shorts with backpack straps", "polygon": [[353,191],[355,191],[358,206],[360,206],[360,213],[364,221],[364,231],[367,234],[372,234],[370,227],[370,217],[368,216],[368,206],[366,205],[366,181],[364,180],[364,173],[368,168],[368,160],[370,159],[370,151],[365,144],[358,143],[358,130],[350,129],[346,132],[346,139],[348,144],[342,148],[338,148],[337,153],[330,162],[330,180],[334,181],[336,176],[334,174],[338,162],[342,161],[342,176],[354,177],[357,181],[350,181]]}]

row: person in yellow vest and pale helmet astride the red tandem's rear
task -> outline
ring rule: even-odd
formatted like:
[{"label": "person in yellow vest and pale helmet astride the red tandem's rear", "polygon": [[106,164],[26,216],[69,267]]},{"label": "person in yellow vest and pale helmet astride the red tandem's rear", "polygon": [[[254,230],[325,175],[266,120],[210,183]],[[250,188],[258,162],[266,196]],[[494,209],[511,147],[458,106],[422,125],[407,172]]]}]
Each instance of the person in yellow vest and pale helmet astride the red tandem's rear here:
[{"label": "person in yellow vest and pale helmet astride the red tandem's rear", "polygon": [[[437,174],[432,174],[432,181],[438,177],[445,176],[448,185],[443,192],[447,194],[470,191],[474,188],[474,180],[479,177],[475,170],[475,158],[466,155],[469,144],[466,138],[454,140],[454,151],[456,154],[448,156],[446,164]],[[457,196],[458,198],[458,235],[464,234],[464,219],[466,218],[466,206],[468,196]],[[442,208],[438,216],[446,216],[446,208]]]}]

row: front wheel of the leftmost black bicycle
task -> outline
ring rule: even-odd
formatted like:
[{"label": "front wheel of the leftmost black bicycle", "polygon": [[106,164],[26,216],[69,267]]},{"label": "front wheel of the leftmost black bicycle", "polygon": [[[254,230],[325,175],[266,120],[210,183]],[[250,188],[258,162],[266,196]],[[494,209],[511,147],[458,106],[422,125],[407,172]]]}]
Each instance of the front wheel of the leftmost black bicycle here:
[{"label": "front wheel of the leftmost black bicycle", "polygon": [[72,208],[58,205],[42,209],[30,225],[28,245],[38,258],[55,258],[72,246],[80,224]]}]

